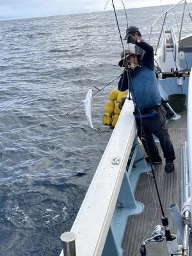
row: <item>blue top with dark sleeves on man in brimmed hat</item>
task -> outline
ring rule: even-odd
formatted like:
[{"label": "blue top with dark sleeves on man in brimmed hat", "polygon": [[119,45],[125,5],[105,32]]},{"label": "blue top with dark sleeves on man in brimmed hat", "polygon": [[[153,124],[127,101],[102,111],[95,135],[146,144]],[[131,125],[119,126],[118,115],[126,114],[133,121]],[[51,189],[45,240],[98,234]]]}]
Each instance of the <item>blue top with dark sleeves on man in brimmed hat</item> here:
[{"label": "blue top with dark sleeves on man in brimmed hat", "polygon": [[154,49],[146,42],[136,43],[145,50],[140,67],[134,70],[124,70],[118,83],[118,90],[124,92],[129,90],[132,100],[137,102],[138,108],[150,108],[161,103],[156,73],[154,71]]}]

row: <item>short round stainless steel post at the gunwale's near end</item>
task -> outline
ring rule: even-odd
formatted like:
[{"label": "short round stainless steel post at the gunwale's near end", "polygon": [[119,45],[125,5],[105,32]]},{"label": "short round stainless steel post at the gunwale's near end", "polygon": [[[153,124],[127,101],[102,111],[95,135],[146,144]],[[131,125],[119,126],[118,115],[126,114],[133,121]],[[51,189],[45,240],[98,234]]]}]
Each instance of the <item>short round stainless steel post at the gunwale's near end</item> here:
[{"label": "short round stainless steel post at the gunwale's near end", "polygon": [[74,232],[65,232],[61,235],[64,256],[76,256],[76,237]]}]

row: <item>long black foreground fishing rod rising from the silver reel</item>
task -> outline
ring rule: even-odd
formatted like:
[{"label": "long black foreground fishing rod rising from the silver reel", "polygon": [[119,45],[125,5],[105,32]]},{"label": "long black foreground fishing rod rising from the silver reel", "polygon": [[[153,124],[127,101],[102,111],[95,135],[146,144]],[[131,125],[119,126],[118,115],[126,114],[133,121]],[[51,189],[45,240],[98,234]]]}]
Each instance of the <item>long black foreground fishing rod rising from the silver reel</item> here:
[{"label": "long black foreground fishing rod rising from the silver reel", "polygon": [[[113,5],[113,10],[115,12],[115,17],[116,17],[116,10],[115,10],[115,4],[113,3],[113,0],[112,1],[112,5]],[[120,40],[122,42],[122,36],[121,36],[121,33],[120,33],[120,29],[119,29],[119,24],[118,24],[118,19],[116,17],[116,23],[117,23],[117,26],[118,26],[118,31],[119,31],[119,34],[120,34]],[[128,24],[128,22],[127,22]],[[123,46],[123,50],[124,50],[124,44],[122,42],[122,46]],[[124,50],[125,51],[125,50]],[[126,59],[127,61],[127,59]],[[131,67],[131,63],[127,63],[127,67],[128,67],[128,70],[127,70],[127,81],[129,83],[129,79],[131,81],[131,86],[132,86],[132,78],[131,78],[131,72],[130,72],[130,67]],[[128,84],[128,89],[129,89],[129,84]],[[136,95],[135,95],[135,92],[134,92],[134,88],[132,86],[132,92],[133,92],[133,96],[134,96],[134,99],[135,99],[135,102],[134,102],[134,106],[136,108],[136,110],[138,111],[138,115],[139,115],[139,120],[140,120],[140,129],[141,129],[141,134],[142,134],[142,137],[141,137],[141,140],[143,140],[145,142],[145,147],[146,147],[146,151],[147,151],[147,155],[148,155],[148,160],[149,160],[149,163],[150,163],[150,168],[151,168],[151,173],[152,173],[152,177],[153,177],[153,180],[154,180],[154,184],[155,184],[155,187],[156,187],[156,192],[157,192],[157,197],[158,197],[158,200],[159,200],[159,205],[160,205],[160,208],[161,208],[161,213],[162,213],[162,217],[161,217],[161,221],[162,221],[162,224],[163,224],[163,227],[165,229],[165,236],[166,236],[166,240],[167,241],[172,241],[173,238],[171,236],[171,233],[170,233],[170,229],[169,229],[169,223],[168,223],[168,218],[164,215],[164,210],[163,210],[163,205],[162,205],[162,202],[161,202],[161,197],[159,195],[159,189],[157,187],[157,182],[156,182],[156,176],[155,176],[155,173],[154,173],[154,168],[153,168],[153,165],[152,165],[152,159],[150,157],[150,153],[149,153],[149,149],[148,149],[148,145],[147,145],[147,139],[146,139],[146,136],[145,136],[145,131],[144,131],[144,128],[143,128],[143,122],[142,122],[142,116],[141,116],[141,112],[140,112],[140,109],[138,108],[138,102],[136,100]],[[143,247],[142,247],[143,246]],[[145,248],[145,244],[143,244],[141,246],[141,248],[143,249],[143,255],[145,255],[146,253],[146,248]]]}]

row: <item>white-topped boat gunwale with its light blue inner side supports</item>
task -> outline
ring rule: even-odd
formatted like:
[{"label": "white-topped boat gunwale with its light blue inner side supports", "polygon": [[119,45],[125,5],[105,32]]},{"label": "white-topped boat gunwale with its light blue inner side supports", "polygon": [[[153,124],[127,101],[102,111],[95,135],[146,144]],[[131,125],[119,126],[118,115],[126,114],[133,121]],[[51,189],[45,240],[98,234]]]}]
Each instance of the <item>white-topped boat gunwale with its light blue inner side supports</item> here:
[{"label": "white-topped boat gunwale with its light blue inner side supports", "polygon": [[[149,171],[136,140],[133,110],[132,101],[125,100],[124,108],[70,230],[72,237],[76,235],[76,254],[69,252],[65,256],[123,255],[121,244],[127,218],[131,212],[136,214],[143,211],[143,204],[134,199],[134,189],[140,173]],[[133,145],[134,154],[126,170]],[[60,256],[63,256],[63,251]]]}]

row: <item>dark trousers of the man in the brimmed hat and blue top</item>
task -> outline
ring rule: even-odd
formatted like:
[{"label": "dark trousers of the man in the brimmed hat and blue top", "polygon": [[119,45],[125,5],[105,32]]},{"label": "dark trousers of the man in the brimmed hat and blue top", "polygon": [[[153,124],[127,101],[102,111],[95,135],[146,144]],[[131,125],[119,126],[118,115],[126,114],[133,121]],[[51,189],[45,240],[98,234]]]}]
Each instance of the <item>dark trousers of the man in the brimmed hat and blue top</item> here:
[{"label": "dark trousers of the man in the brimmed hat and blue top", "polygon": [[143,141],[143,137],[146,138],[148,151],[152,159],[154,157],[159,156],[159,151],[157,149],[156,142],[154,141],[153,138],[154,134],[159,139],[161,148],[163,150],[164,158],[174,160],[175,152],[173,149],[172,141],[170,140],[170,136],[168,134],[168,127],[166,125],[166,117],[164,114],[163,107],[161,106],[156,111],[157,114],[155,116],[142,118],[145,137],[143,136],[143,132],[141,131],[140,118],[136,118],[138,126],[138,136],[140,137],[143,146],[145,147],[145,150],[147,152],[145,141]]}]

